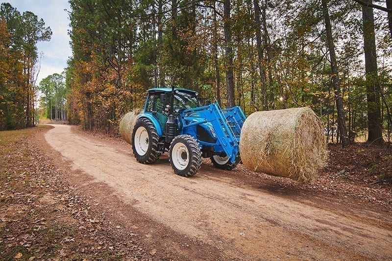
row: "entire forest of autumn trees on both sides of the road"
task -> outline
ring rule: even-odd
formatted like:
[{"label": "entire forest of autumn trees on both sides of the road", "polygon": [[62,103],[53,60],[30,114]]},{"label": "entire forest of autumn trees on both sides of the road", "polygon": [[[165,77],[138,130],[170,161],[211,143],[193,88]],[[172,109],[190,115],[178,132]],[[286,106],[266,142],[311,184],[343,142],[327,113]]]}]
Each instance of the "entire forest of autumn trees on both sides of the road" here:
[{"label": "entire forest of autumn trees on both sides of the road", "polygon": [[308,106],[343,146],[390,142],[392,0],[69,2],[73,56],[40,83],[50,28],[1,4],[0,129],[33,125],[39,92],[46,117],[117,134],[149,88],[177,86],[246,115]]}]

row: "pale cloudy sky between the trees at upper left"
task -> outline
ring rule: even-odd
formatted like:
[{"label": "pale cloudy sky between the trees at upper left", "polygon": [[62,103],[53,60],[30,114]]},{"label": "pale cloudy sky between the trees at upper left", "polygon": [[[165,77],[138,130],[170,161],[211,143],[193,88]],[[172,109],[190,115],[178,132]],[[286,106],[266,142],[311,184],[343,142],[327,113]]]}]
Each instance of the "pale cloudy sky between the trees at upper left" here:
[{"label": "pale cloudy sky between the trees at upper left", "polygon": [[68,0],[2,0],[0,2],[9,2],[21,13],[33,12],[38,19],[44,20],[46,27],[49,26],[52,30],[49,42],[37,44],[38,52],[42,54],[37,85],[48,75],[64,71],[68,57],[72,56],[71,39],[68,35],[70,21],[67,11],[71,9]]}]

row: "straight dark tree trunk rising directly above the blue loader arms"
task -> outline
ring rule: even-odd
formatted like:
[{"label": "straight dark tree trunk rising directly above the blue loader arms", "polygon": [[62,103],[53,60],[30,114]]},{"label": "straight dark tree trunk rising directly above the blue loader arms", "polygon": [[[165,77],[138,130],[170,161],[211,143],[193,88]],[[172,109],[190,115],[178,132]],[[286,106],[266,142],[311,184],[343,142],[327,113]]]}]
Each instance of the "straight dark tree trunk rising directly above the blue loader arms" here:
[{"label": "straight dark tree trunk rising directly above the blue loader arms", "polygon": [[227,107],[235,106],[234,97],[234,75],[233,75],[233,47],[230,29],[230,0],[223,1],[223,29],[224,29],[224,51],[226,56],[226,90]]}]

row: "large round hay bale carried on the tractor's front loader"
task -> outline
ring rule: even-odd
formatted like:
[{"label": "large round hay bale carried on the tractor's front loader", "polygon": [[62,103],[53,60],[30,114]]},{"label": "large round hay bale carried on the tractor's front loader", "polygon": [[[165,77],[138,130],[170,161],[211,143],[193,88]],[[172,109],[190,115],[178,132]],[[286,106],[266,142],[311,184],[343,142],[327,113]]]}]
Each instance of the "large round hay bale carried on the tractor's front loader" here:
[{"label": "large round hay bale carried on the tractor's front loader", "polygon": [[316,176],[328,157],[321,121],[307,107],[251,114],[241,130],[240,154],[250,170],[299,183]]}]

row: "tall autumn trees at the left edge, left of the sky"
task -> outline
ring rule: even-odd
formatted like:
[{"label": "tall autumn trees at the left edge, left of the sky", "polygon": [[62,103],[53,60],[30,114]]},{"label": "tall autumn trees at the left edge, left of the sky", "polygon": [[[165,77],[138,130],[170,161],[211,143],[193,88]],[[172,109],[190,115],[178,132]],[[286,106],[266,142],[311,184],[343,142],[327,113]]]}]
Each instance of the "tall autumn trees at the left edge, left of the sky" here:
[{"label": "tall autumn trees at the left edge, left of the sky", "polygon": [[35,124],[38,41],[51,30],[32,12],[0,5],[0,130]]}]

